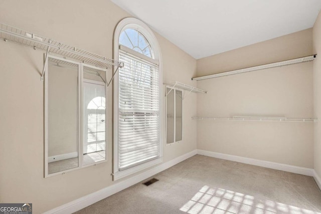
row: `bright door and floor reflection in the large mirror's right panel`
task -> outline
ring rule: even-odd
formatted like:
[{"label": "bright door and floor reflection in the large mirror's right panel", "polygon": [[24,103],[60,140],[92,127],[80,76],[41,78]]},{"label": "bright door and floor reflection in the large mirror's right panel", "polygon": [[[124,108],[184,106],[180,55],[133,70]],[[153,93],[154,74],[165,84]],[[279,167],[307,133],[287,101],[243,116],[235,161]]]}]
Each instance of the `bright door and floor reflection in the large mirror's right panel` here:
[{"label": "bright door and floor reflection in the large mirror's right panel", "polygon": [[84,80],[83,126],[84,164],[105,160],[106,99],[104,84]]}]

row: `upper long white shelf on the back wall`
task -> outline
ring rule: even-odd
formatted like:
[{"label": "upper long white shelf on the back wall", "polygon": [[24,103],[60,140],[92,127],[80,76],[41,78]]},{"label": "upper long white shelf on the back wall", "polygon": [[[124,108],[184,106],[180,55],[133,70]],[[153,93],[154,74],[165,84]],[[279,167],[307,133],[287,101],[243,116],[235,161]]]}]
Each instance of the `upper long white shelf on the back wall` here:
[{"label": "upper long white shelf on the back wall", "polygon": [[267,68],[275,68],[275,67],[281,67],[281,66],[286,66],[286,65],[292,65],[292,64],[297,64],[297,63],[303,63],[303,62],[309,62],[314,60],[316,57],[316,54],[307,56],[307,57],[301,57],[301,58],[296,58],[292,60],[285,60],[285,61],[280,61],[276,63],[269,63],[265,65],[259,65],[259,66],[254,66],[254,67],[249,67],[249,68],[243,68],[243,69],[238,69],[238,70],[233,70],[233,71],[227,71],[227,72],[222,72],[218,74],[211,74],[211,75],[206,75],[206,76],[201,76],[201,77],[194,77],[192,80],[206,80],[206,79],[211,79],[211,78],[217,78],[217,77],[223,77],[223,76],[228,76],[228,75],[233,75],[233,74],[240,74],[240,73],[245,73],[245,72],[250,72],[250,71],[258,71],[258,70],[263,70]]}]

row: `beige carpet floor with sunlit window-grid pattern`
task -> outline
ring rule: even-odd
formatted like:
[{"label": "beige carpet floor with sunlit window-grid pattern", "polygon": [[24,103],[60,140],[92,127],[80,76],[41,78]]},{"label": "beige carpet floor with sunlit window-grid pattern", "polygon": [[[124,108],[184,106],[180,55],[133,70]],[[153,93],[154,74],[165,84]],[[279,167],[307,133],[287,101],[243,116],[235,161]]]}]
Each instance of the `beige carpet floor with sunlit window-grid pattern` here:
[{"label": "beige carpet floor with sunlit window-grid pattern", "polygon": [[195,155],[76,213],[321,213],[309,176]]}]

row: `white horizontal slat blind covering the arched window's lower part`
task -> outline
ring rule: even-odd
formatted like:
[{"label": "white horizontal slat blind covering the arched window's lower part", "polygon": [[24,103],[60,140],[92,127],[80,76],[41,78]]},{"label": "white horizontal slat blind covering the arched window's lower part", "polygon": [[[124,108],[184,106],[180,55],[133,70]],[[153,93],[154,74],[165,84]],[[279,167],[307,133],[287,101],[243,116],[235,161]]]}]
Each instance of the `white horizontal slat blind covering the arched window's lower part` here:
[{"label": "white horizontal slat blind covering the arched window's lower part", "polygon": [[[151,59],[152,60],[152,59]],[[152,61],[119,50],[118,169],[159,157],[159,73]]]}]

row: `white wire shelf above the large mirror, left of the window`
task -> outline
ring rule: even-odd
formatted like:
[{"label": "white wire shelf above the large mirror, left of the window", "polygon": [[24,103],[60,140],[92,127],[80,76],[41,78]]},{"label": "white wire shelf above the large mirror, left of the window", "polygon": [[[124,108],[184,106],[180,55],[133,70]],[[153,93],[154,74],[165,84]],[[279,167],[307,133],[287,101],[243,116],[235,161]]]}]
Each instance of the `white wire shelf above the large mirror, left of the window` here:
[{"label": "white wire shelf above the large mirror, left of the window", "polygon": [[101,68],[108,69],[113,66],[121,66],[121,63],[115,60],[2,23],[0,23],[0,38],[34,49],[47,50],[49,47],[50,53]]}]

